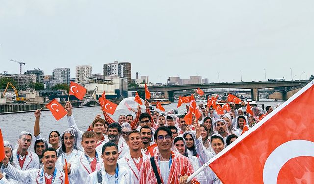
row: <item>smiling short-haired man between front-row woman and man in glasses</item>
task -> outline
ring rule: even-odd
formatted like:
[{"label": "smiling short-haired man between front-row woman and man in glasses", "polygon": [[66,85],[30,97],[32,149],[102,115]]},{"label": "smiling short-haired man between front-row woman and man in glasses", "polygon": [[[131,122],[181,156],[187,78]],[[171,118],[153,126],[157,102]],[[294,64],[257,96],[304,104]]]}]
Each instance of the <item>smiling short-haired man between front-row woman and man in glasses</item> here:
[{"label": "smiling short-haired man between front-row woman and man in glasses", "polygon": [[143,162],[148,159],[148,156],[142,153],[142,139],[140,132],[137,130],[131,131],[127,138],[127,144],[129,146],[129,152],[119,159],[118,163],[133,172],[134,183],[138,184],[139,179],[141,178],[139,171]]}]

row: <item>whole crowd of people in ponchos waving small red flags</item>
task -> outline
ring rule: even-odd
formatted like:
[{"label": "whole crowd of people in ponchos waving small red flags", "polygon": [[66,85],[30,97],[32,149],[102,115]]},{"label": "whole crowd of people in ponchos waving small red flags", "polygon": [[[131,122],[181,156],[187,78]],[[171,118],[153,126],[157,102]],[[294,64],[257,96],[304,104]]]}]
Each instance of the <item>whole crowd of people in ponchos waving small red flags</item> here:
[{"label": "whole crowd of people in ponchos waving small red flags", "polygon": [[66,173],[70,184],[222,184],[209,167],[187,178],[241,136],[245,125],[254,126],[273,110],[267,106],[265,114],[253,107],[248,115],[231,105],[218,115],[199,103],[201,116],[193,114],[188,125],[175,109],[152,111],[147,100],[145,107],[138,105],[136,117],[120,115],[117,121],[103,112],[85,131],[67,102],[68,129],[53,130],[48,139],[40,134],[36,110],[33,133],[22,131],[15,148],[4,141],[0,184],[65,184]]}]

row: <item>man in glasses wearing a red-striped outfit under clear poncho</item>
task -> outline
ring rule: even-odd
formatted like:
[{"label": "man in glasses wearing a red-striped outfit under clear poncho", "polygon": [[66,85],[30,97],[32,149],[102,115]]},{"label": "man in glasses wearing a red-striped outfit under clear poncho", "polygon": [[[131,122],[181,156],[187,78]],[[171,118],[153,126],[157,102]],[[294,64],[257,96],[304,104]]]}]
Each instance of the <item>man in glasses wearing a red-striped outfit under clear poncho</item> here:
[{"label": "man in glasses wearing a red-striped outfit under clear poncho", "polygon": [[[154,133],[158,148],[154,156],[145,160],[141,168],[140,184],[186,184],[189,175],[194,173],[187,157],[171,150],[172,132],[168,127],[159,127]],[[153,169],[155,168],[155,169]],[[194,178],[187,184],[198,184]]]}]

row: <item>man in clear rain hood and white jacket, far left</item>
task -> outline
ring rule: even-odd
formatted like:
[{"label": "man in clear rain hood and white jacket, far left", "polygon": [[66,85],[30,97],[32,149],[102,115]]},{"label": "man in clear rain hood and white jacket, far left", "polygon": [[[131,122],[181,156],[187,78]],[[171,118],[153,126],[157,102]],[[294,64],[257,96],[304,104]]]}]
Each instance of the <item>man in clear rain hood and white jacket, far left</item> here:
[{"label": "man in clear rain hood and white jacket, far left", "polygon": [[20,170],[39,169],[39,158],[37,154],[28,150],[31,145],[32,135],[29,132],[22,131],[18,140],[18,148],[13,150],[13,161],[15,167]]}]

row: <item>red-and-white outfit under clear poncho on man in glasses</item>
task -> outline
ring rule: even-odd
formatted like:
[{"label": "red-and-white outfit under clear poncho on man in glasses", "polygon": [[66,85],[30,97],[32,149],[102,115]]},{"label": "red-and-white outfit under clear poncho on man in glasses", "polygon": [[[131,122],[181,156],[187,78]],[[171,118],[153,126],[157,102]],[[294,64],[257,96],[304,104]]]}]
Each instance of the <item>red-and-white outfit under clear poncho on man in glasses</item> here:
[{"label": "red-and-white outfit under clear poncho on man in glasses", "polygon": [[[155,164],[157,166],[157,170],[162,180],[162,183],[179,184],[180,177],[185,176],[185,175],[190,176],[192,173],[194,173],[194,169],[191,162],[189,161],[189,158],[181,155],[178,152],[172,152],[172,151],[171,151],[171,158],[172,158],[172,163],[170,166],[170,170],[167,171],[167,169],[160,169],[159,151],[157,151],[157,153],[154,155]],[[147,159],[144,162],[140,173],[141,173],[141,179],[139,181],[139,184],[157,184],[156,176],[151,166],[150,159]],[[167,183],[165,183],[163,179],[164,178],[163,176],[165,175],[168,175]],[[194,178],[192,179],[192,184],[199,184],[199,182]]]}]

